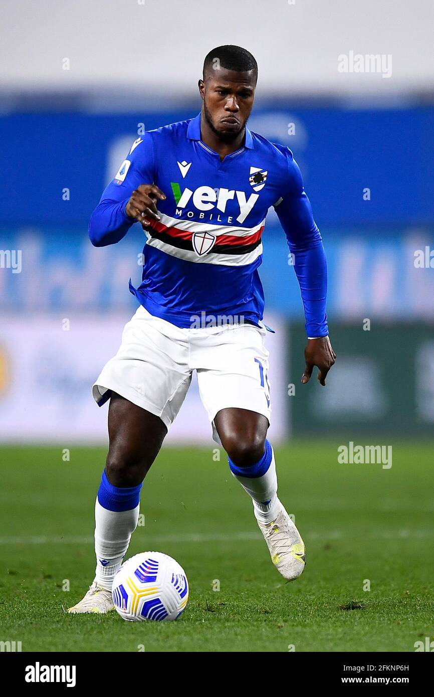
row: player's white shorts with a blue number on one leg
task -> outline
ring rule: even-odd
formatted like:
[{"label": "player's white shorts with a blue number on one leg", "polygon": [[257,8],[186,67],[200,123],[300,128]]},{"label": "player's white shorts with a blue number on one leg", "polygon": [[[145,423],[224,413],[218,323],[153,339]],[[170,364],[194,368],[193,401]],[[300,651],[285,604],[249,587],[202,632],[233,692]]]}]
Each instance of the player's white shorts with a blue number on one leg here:
[{"label": "player's white shorts with a blue number on one leg", "polygon": [[263,414],[270,424],[267,330],[251,324],[200,329],[176,327],[140,306],[125,324],[118,353],[92,388],[102,406],[117,392],[159,416],[167,430],[176,418],[196,370],[212,434],[217,412],[227,407]]}]

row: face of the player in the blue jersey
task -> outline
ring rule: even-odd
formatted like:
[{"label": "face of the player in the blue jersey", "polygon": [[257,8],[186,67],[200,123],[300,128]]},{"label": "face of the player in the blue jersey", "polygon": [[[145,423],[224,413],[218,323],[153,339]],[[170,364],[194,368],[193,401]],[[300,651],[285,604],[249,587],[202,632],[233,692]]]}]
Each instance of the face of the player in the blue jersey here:
[{"label": "face of the player in the blue jersey", "polygon": [[256,75],[210,68],[199,80],[206,120],[222,139],[235,138],[245,127],[255,98]]}]

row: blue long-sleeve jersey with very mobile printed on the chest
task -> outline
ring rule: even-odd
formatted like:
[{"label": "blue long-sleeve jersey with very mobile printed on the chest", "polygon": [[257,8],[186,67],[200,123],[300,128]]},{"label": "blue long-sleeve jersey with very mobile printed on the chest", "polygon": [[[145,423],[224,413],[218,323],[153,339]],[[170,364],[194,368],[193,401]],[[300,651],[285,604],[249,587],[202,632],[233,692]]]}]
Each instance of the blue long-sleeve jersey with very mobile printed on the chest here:
[{"label": "blue long-sleeve jersey with very mobile printed on the chest", "polygon": [[166,199],[157,202],[160,221],[152,220],[146,233],[142,282],[136,289],[130,280],[130,291],[150,314],[178,327],[190,327],[198,315],[258,325],[262,233],[274,206],[300,283],[307,335],[326,336],[325,253],[293,153],[246,128],[245,144],[221,161],[201,141],[200,119],[134,141],[93,211],[92,244],[121,240],[134,224],[125,213],[132,192],[154,183]]}]

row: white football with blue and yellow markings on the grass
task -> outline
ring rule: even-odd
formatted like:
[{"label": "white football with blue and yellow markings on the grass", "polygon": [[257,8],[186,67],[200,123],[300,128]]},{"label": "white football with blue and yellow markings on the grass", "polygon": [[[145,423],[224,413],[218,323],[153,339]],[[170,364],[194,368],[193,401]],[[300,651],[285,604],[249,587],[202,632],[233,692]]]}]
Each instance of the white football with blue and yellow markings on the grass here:
[{"label": "white football with blue and yellow markings on the grass", "polygon": [[113,602],[124,620],[176,620],[188,601],[183,567],[162,552],[127,559],[113,581]]}]

